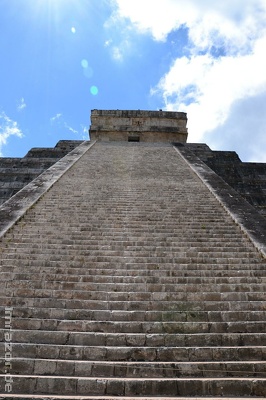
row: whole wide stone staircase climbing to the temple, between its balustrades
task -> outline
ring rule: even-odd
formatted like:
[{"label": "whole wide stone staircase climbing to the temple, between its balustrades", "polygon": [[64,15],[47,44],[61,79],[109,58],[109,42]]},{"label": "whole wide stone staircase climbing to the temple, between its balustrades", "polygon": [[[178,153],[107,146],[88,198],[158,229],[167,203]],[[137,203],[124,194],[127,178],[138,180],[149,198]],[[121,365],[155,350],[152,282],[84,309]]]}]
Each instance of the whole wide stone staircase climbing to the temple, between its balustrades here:
[{"label": "whole wide stone staircase climbing to the temple, between its balustrades", "polygon": [[266,261],[171,145],[96,143],[0,259],[1,399],[266,397]]}]

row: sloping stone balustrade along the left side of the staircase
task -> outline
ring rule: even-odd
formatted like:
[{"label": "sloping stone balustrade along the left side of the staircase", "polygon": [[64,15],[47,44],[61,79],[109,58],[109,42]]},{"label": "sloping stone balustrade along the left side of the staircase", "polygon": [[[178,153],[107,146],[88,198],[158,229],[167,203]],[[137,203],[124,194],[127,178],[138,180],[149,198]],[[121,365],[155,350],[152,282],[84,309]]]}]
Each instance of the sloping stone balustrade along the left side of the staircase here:
[{"label": "sloping stone balustrade along the left side of the staircase", "polygon": [[94,144],[84,141],[0,206],[0,238],[47,192]]}]

